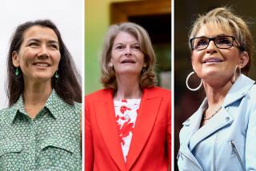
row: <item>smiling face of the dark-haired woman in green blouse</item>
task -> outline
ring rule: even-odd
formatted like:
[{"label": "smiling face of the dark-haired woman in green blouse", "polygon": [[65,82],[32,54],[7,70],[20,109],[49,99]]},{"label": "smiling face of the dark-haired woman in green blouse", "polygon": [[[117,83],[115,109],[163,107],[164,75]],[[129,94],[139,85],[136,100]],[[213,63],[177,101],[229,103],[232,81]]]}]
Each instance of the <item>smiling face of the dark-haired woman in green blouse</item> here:
[{"label": "smiling face of the dark-haired woman in green blouse", "polygon": [[24,82],[50,82],[61,58],[58,37],[48,27],[31,26],[12,58],[14,66],[21,68]]}]

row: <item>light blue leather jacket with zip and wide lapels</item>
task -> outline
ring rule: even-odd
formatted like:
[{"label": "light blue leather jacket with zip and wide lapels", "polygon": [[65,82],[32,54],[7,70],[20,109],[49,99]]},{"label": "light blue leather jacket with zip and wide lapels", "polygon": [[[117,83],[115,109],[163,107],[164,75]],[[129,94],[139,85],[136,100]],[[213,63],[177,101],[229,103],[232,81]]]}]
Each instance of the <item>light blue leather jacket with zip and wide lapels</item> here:
[{"label": "light blue leather jacket with zip and wide lapels", "polygon": [[222,108],[200,128],[207,99],[183,123],[180,171],[256,170],[256,85],[241,75],[227,93]]}]

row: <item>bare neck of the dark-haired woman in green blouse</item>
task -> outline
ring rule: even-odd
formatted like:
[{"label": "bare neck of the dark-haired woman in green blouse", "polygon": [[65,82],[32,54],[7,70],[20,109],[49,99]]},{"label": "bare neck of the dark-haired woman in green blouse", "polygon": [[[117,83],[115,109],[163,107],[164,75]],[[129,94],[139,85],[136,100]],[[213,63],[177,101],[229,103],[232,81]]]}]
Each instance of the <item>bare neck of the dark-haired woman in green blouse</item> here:
[{"label": "bare neck of the dark-haired woman in green blouse", "polygon": [[24,80],[24,106],[26,113],[34,118],[46,104],[52,91],[50,82],[26,82]]}]

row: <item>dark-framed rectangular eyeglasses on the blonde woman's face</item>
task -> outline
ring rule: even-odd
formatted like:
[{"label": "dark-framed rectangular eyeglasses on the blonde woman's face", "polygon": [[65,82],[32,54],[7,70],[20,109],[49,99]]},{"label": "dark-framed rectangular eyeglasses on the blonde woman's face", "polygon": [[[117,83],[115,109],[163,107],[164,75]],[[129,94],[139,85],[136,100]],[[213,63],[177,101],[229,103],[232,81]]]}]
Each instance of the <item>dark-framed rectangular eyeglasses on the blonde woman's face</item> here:
[{"label": "dark-framed rectangular eyeglasses on the blonde woman's face", "polygon": [[[214,44],[219,49],[228,49],[233,46],[235,41],[234,36],[218,36],[215,38],[198,37],[190,39],[191,50],[205,50],[210,41],[214,41]],[[238,46],[239,50],[244,51],[242,46]]]}]

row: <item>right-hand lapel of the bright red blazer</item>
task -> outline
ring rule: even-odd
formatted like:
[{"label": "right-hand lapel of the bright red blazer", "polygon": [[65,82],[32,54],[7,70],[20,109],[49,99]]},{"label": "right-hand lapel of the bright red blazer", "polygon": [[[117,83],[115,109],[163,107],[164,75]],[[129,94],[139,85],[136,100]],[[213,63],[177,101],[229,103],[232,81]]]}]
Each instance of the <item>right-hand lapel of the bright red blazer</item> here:
[{"label": "right-hand lapel of the bright red blazer", "polygon": [[126,168],[129,170],[138,155],[142,152],[144,145],[154,126],[154,121],[158,115],[162,96],[152,95],[149,89],[143,89],[142,101],[138,110],[138,117],[134,127],[134,134],[130,143],[127,156]]}]

